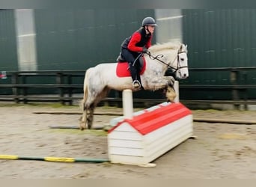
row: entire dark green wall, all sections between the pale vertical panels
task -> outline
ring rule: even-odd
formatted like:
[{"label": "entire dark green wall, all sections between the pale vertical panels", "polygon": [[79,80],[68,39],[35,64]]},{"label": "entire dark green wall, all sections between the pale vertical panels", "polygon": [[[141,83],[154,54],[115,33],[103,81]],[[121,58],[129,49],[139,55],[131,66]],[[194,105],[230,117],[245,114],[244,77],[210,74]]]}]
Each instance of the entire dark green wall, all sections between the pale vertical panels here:
[{"label": "entire dark green wall, all sections between the pale vertical panels", "polygon": [[[153,10],[34,10],[38,70],[85,70],[115,61],[124,37]],[[250,67],[256,60],[256,10],[183,10],[189,67]],[[157,30],[156,30],[157,32]],[[0,71],[19,70],[13,10],[0,10]],[[255,84],[256,73],[247,74]],[[230,85],[226,72],[190,72],[188,84]],[[243,76],[239,82],[244,82]],[[144,97],[144,96],[142,96]],[[148,95],[150,97],[150,95]],[[231,99],[228,91],[180,92],[181,99]],[[255,97],[250,91],[249,98]]]}]

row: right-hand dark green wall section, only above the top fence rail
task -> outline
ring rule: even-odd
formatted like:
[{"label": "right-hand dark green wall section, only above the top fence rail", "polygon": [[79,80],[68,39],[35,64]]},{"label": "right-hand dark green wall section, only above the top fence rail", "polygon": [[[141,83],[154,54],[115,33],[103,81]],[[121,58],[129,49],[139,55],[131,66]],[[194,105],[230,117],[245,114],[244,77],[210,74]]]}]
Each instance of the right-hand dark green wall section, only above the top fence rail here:
[{"label": "right-hand dark green wall section, only above the top fence rail", "polygon": [[190,67],[249,67],[256,59],[256,10],[183,10]]}]

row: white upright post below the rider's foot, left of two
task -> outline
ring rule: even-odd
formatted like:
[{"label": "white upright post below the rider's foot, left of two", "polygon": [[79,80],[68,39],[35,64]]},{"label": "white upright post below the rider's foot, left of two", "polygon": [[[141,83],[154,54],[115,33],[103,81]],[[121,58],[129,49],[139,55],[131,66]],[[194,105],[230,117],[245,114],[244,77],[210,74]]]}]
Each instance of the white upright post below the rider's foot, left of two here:
[{"label": "white upright post below the rider's foot, left of two", "polygon": [[124,111],[124,118],[132,119],[132,114],[133,114],[132,90],[126,89],[123,91],[123,111]]}]

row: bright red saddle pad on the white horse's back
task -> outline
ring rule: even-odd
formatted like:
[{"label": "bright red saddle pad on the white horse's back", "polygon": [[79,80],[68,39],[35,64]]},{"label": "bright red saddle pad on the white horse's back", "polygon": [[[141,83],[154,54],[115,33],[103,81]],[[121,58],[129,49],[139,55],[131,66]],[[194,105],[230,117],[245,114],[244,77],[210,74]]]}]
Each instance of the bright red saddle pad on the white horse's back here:
[{"label": "bright red saddle pad on the white horse's back", "polygon": [[[121,54],[118,55],[117,62],[118,62],[117,69],[116,69],[117,76],[118,77],[131,76],[131,73],[129,71],[129,64],[126,60],[124,60],[124,58],[122,58]],[[138,58],[137,63],[138,62],[140,64],[139,72],[140,72],[140,75],[142,75],[144,73],[144,70],[146,69],[146,61],[143,56],[140,56]]]}]

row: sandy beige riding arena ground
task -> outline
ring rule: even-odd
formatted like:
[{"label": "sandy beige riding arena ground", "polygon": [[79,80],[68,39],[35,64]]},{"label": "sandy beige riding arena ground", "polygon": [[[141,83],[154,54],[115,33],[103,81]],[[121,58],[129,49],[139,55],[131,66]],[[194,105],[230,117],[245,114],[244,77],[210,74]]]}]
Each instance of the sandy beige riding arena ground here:
[{"label": "sandy beige riding arena ground", "polygon": [[[139,109],[136,108],[135,111]],[[0,155],[108,159],[103,130],[50,129],[78,126],[78,106],[0,103]],[[99,107],[97,112],[121,113]],[[255,111],[193,110],[194,117],[256,120]],[[108,125],[112,115],[95,115],[94,126]],[[188,139],[156,159],[154,168],[103,163],[65,163],[0,159],[1,179],[255,179],[256,125],[194,122]]]}]

